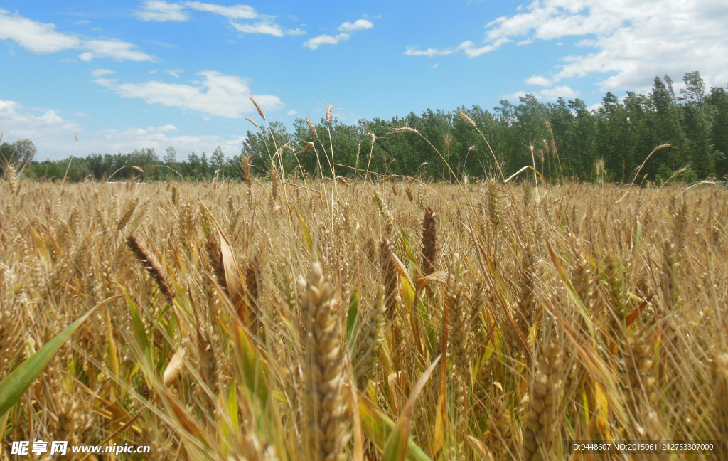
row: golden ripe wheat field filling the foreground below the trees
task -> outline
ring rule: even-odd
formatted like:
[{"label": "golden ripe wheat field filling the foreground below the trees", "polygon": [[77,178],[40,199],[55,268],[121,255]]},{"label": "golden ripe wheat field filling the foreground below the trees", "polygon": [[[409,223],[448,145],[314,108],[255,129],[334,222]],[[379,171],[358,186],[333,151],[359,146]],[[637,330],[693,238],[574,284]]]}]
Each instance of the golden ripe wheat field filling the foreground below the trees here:
[{"label": "golden ripe wheat field filling the foreground below the trees", "polygon": [[1,459],[728,440],[726,189],[388,179],[0,183]]}]

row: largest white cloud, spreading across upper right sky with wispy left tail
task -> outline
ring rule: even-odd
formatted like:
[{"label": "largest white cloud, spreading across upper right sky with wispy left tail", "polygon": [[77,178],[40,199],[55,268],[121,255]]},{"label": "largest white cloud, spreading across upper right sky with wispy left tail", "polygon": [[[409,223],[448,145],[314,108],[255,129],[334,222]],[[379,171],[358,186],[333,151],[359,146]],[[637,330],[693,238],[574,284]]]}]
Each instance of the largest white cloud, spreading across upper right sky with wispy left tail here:
[{"label": "largest white cloud, spreading across upper right sky with wispy left tail", "polygon": [[516,40],[583,37],[576,46],[592,50],[563,56],[554,81],[606,74],[601,90],[646,91],[656,75],[699,70],[710,86],[728,81],[726,23],[721,0],[534,0],[488,23],[482,47],[468,41],[458,50],[475,58]]}]

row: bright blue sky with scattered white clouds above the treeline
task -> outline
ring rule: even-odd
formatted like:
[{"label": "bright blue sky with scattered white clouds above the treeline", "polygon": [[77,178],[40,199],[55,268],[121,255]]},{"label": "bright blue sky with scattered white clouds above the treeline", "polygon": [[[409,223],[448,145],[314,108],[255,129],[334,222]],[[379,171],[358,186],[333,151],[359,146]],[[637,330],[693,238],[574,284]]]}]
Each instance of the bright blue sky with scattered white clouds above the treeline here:
[{"label": "bright blue sky with scattered white clouds above the treeline", "polygon": [[726,24],[712,0],[0,0],[0,133],[39,159],[232,156],[260,121],[250,96],[289,125],[329,104],[355,123],[526,92],[596,107],[656,75],[725,86]]}]

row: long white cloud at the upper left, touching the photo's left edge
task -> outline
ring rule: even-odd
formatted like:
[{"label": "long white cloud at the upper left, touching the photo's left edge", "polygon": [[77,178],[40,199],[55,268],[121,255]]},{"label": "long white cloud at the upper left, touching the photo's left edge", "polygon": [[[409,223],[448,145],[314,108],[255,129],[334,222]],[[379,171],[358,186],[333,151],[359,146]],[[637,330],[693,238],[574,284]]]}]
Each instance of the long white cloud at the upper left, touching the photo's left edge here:
[{"label": "long white cloud at the upper left, touching the photo's left edge", "polygon": [[26,50],[36,53],[86,50],[79,56],[79,59],[86,62],[93,58],[154,60],[150,55],[134,50],[135,44],[116,39],[82,40],[77,36],[55,31],[55,24],[39,23],[18,15],[9,16],[4,9],[0,9],[0,39],[13,40]]}]

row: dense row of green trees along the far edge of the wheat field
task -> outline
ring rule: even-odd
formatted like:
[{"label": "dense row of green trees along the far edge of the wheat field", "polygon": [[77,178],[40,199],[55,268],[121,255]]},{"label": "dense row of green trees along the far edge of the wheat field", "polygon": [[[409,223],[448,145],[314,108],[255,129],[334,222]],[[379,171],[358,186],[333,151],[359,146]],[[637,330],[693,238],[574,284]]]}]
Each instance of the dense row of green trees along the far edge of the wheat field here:
[{"label": "dense row of green trees along the far edge of the wheat field", "polygon": [[356,125],[331,119],[329,113],[317,124],[296,119],[293,133],[282,122],[249,119],[255,130],[248,131],[240,153],[232,156],[218,146],[209,156],[192,152],[178,159],[181,155],[170,146],[161,159],[154,149],[141,149],[43,161],[32,140],[25,140],[2,143],[0,162],[25,178],[71,182],[132,176],[143,181],[241,181],[245,157],[258,176],[267,175],[273,161],[286,175],[331,178],[371,172],[454,182],[500,176],[497,159],[506,177],[535,165],[550,181],[724,181],[727,90],[711,87],[708,92],[698,71],[685,74],[683,82],[677,92],[669,76],[655,77],[647,95],[627,92],[620,99],[607,92],[594,110],[578,98],[542,103],[525,95],[518,105],[503,100],[493,111],[479,106],[427,110],[390,120],[359,119]]}]

